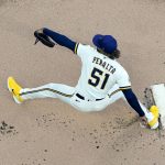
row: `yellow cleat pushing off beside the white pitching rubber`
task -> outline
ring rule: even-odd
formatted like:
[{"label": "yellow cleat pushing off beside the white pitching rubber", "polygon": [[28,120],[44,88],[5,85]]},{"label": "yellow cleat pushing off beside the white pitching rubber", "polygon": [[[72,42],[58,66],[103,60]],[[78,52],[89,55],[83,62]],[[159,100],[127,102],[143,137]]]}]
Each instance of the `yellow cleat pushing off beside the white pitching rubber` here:
[{"label": "yellow cleat pushing off beside the white pitching rubber", "polygon": [[148,122],[148,125],[151,129],[157,129],[158,128],[158,116],[160,116],[158,114],[158,108],[156,106],[152,106],[150,108],[150,112],[152,112],[154,118],[153,118],[153,120],[151,120]]}]

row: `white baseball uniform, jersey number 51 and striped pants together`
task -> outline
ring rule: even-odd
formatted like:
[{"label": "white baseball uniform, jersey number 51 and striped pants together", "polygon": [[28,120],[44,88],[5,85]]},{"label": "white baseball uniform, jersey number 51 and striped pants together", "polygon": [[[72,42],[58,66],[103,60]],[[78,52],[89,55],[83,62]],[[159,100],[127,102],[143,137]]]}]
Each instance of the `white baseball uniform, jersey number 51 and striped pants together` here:
[{"label": "white baseball uniform, jersey number 51 and striped pants together", "polygon": [[131,87],[125,69],[113,59],[89,45],[76,44],[75,54],[81,59],[81,75],[76,87],[47,84],[24,88],[20,96],[26,99],[58,98],[80,111],[100,111],[123,98],[122,89]]}]

